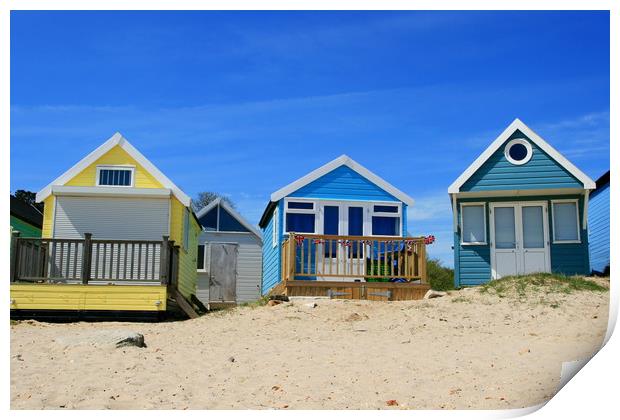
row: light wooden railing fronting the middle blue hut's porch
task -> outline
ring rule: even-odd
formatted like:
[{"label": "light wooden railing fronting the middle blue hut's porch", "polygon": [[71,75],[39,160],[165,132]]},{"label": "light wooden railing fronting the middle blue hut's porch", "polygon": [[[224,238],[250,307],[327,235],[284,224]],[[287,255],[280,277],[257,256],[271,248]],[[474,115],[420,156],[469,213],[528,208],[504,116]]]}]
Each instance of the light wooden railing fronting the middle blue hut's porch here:
[{"label": "light wooden railing fronting the middle blue hut's porch", "polygon": [[282,280],[426,283],[423,237],[306,235],[282,244]]}]

